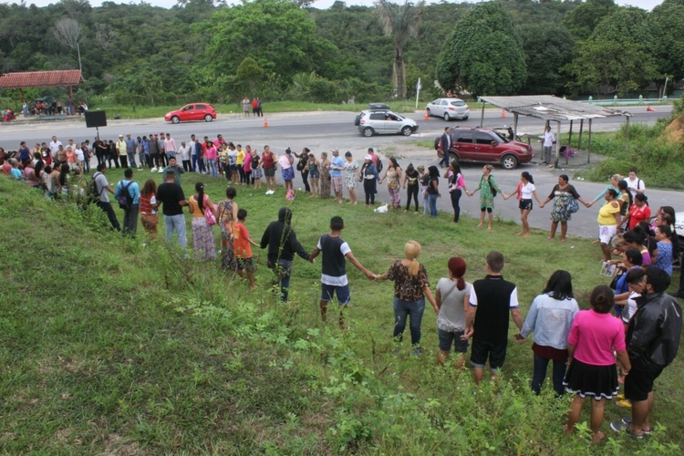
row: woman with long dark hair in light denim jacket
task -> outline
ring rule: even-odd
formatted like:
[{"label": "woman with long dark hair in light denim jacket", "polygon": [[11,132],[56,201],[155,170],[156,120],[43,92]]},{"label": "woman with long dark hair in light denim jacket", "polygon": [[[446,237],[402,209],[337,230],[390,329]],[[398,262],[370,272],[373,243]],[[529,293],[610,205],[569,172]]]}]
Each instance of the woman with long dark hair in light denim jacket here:
[{"label": "woman with long dark hair in light denim jacket", "polygon": [[541,295],[532,301],[523,329],[515,335],[519,342],[534,332],[534,371],[532,390],[539,394],[549,361],[554,363],[554,391],[557,396],[565,392],[563,378],[567,363],[567,336],[579,306],[573,296],[573,281],[567,271],[555,271],[549,277]]}]

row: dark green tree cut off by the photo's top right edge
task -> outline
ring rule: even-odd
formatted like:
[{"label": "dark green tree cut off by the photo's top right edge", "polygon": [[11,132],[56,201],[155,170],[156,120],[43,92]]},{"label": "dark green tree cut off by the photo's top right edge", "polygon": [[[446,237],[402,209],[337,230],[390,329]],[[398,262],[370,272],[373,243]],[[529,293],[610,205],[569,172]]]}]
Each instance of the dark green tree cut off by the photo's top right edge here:
[{"label": "dark green tree cut off by the photo's top right edge", "polygon": [[646,28],[658,71],[670,78],[684,78],[684,0],[665,0],[653,8]]}]

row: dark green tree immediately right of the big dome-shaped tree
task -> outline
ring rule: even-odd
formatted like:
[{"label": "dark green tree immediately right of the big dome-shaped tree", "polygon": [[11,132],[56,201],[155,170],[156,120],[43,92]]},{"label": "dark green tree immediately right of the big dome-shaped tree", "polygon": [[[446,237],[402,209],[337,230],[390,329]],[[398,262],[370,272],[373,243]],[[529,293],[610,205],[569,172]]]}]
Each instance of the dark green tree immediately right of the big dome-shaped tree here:
[{"label": "dark green tree immediately right of the big dome-shaped tree", "polygon": [[561,68],[573,59],[574,39],[563,26],[552,23],[521,26],[527,79],[523,95],[555,95],[565,88]]}]

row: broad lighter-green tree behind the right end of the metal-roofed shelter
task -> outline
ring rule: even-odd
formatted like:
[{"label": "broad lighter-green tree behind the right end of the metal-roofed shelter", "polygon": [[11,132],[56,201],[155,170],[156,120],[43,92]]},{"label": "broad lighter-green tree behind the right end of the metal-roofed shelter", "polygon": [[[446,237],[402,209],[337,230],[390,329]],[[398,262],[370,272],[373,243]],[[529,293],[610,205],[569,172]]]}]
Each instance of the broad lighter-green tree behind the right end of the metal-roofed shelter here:
[{"label": "broad lighter-green tree behind the right end of the metal-roofed shelter", "polygon": [[596,26],[585,41],[575,45],[575,58],[565,70],[576,89],[615,90],[618,95],[647,86],[658,76],[649,52],[646,12],[618,8]]}]

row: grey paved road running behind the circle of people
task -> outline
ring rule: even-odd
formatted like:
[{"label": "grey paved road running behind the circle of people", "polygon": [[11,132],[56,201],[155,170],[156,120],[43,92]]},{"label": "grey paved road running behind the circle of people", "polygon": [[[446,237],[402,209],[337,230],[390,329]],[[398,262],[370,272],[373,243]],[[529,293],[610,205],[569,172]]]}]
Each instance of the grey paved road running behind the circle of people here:
[{"label": "grey paved road running behind the circle of people", "polygon": [[[671,107],[658,107],[657,112],[646,112],[645,107],[636,107],[629,110],[634,114],[631,119],[633,123],[653,124],[656,119],[668,116],[670,109]],[[511,119],[510,115],[506,119],[501,119],[500,114],[501,111],[499,110],[486,110],[484,126],[501,127],[503,124],[510,124],[512,122],[513,119]],[[195,122],[179,125],[171,125],[158,119],[109,120],[109,126],[99,129],[99,132],[102,138],[115,139],[119,133],[130,132],[133,136],[142,136],[149,135],[152,131],[171,131],[171,135],[177,142],[189,139],[191,133],[200,137],[207,135],[210,138],[215,138],[217,133],[222,133],[223,137],[227,140],[241,142],[243,145],[250,143],[253,148],[255,147],[259,150],[261,150],[264,144],[269,144],[276,152],[285,150],[288,146],[291,146],[294,150],[301,150],[302,147],[306,146],[316,152],[337,147],[340,150],[352,151],[354,157],[358,160],[365,154],[368,147],[380,150],[396,148],[401,150],[399,153],[401,156],[399,163],[403,167],[406,167],[409,162],[414,163],[414,165],[422,163],[426,167],[430,164],[436,164],[437,160],[433,150],[412,147],[412,145],[415,144],[416,140],[433,140],[444,129],[444,126],[447,125],[443,120],[430,119],[425,121],[422,120],[420,114],[413,114],[409,117],[418,120],[420,124],[419,134],[409,138],[376,136],[368,139],[362,137],[353,126],[353,117],[353,113],[349,112],[326,111],[274,114],[272,116],[267,115],[270,124],[269,128],[263,127],[264,119],[233,119],[230,116],[221,116],[220,119],[211,123]],[[475,117],[478,117],[478,119],[475,119]],[[623,122],[623,118],[596,119],[593,122],[593,130],[617,130]],[[479,113],[473,112],[471,119],[451,122],[449,125],[475,126],[478,124]],[[533,133],[542,131],[543,128],[544,124],[539,119],[521,118],[518,124],[518,130],[522,132]],[[567,126],[564,126],[564,128],[566,129]],[[575,126],[576,128],[577,126]],[[66,143],[68,138],[73,138],[74,140],[92,139],[95,136],[95,130],[87,129],[84,123],[76,121],[39,125],[2,125],[0,126],[0,146],[5,148],[5,150],[14,150],[20,140],[26,140],[29,146],[31,146],[35,142],[49,141],[53,134]],[[574,161],[577,160],[577,158],[574,159]],[[482,165],[464,165],[462,171],[468,187],[472,189],[480,180]],[[558,175],[562,173],[568,174],[573,179],[572,183],[575,185],[575,188],[587,200],[593,199],[605,188],[604,184],[574,180],[572,170],[549,170],[535,162],[521,165],[513,171],[505,171],[501,167],[496,167],[493,175],[499,181],[503,191],[509,193],[515,189],[522,171],[532,173],[534,183],[542,200],[553,188]],[[648,186],[648,182],[646,183]],[[295,179],[295,186],[302,187],[299,176]],[[381,185],[380,187],[378,199],[381,202],[388,202],[389,196],[384,188],[385,186]],[[451,201],[448,198],[446,185],[443,180],[440,187],[442,188],[443,197],[439,200],[438,207],[442,211],[451,212]],[[358,192],[362,198],[362,190],[358,189]],[[684,206],[681,203],[681,192],[649,190],[648,198],[653,207],[668,204],[676,209],[682,209],[682,206]],[[405,201],[404,195],[402,195],[402,201]],[[547,230],[550,224],[550,206],[539,209],[536,207],[536,202],[534,206],[534,211],[529,217],[530,225]],[[359,208],[359,210],[361,209]],[[591,209],[581,207],[580,211],[573,215],[573,220],[569,223],[568,233],[583,237],[595,237],[598,209],[598,203]],[[463,196],[461,199],[461,210],[467,215],[479,216],[477,195],[472,198]],[[501,198],[497,197],[495,213],[501,214],[507,220],[518,220],[520,212],[517,208],[517,200],[511,199],[504,202]]]}]

